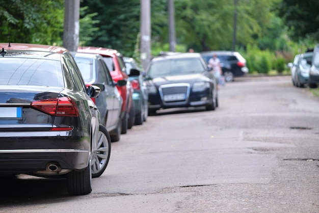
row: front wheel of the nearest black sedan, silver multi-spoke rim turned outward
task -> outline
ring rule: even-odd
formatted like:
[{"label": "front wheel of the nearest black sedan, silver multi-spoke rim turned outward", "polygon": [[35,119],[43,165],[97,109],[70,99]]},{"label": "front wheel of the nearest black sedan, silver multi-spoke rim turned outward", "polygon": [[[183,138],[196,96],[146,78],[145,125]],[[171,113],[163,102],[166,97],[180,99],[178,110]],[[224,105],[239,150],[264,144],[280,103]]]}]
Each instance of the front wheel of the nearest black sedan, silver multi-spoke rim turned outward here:
[{"label": "front wheel of the nearest black sedan, silver multi-spoke rim turned outward", "polygon": [[111,138],[108,130],[100,124],[96,145],[92,148],[92,177],[99,177],[107,168],[111,154]]}]

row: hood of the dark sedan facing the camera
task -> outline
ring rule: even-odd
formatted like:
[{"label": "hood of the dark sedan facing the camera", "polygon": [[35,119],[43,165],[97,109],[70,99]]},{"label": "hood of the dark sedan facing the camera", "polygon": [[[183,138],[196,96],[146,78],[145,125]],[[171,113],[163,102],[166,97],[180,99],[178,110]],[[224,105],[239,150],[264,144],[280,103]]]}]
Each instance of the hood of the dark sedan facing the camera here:
[{"label": "hood of the dark sedan facing the camera", "polygon": [[163,76],[163,77],[155,77],[152,78],[151,81],[156,86],[161,86],[165,84],[176,84],[176,83],[189,83],[193,85],[194,82],[209,82],[211,79],[209,79],[207,76],[203,74],[187,74],[187,75],[171,75],[171,76]]}]

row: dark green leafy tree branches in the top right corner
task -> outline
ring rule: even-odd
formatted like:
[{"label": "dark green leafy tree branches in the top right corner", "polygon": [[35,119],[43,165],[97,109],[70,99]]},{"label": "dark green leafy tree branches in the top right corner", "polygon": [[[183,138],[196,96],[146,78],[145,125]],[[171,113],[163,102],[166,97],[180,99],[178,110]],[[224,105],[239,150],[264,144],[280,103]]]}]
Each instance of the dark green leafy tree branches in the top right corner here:
[{"label": "dark green leafy tree branches in the top right corner", "polygon": [[283,18],[291,39],[300,41],[308,38],[319,42],[318,8],[317,0],[282,0],[278,14]]}]

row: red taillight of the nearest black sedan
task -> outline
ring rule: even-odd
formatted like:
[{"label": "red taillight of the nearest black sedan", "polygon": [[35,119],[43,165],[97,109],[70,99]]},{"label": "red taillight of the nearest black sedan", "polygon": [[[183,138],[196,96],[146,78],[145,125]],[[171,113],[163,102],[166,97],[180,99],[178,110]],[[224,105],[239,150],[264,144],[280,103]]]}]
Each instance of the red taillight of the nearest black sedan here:
[{"label": "red taillight of the nearest black sedan", "polygon": [[78,116],[75,102],[69,97],[36,100],[31,103],[31,106],[53,116]]}]

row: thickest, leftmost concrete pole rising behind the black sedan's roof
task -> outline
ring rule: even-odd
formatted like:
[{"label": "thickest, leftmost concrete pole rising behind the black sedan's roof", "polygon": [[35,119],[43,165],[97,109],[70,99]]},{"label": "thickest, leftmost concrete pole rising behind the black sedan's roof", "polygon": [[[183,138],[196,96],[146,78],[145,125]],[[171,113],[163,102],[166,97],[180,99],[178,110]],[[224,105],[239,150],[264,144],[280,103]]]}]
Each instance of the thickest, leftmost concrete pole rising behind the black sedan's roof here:
[{"label": "thickest, leftmost concrete pole rising behind the black sedan's roof", "polygon": [[77,51],[79,34],[80,0],[64,1],[63,46],[69,51]]}]

